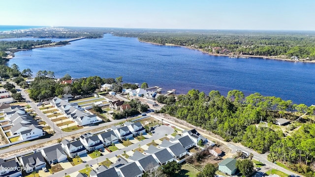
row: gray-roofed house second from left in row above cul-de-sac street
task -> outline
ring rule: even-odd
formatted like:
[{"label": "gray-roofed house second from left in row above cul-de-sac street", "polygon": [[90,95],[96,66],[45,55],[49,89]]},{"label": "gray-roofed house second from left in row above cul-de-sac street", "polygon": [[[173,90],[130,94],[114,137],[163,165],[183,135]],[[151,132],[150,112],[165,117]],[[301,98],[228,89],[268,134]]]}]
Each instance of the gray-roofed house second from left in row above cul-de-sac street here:
[{"label": "gray-roofed house second from left in row above cul-de-sac street", "polygon": [[31,173],[34,170],[36,171],[46,166],[45,159],[40,152],[19,157],[19,160],[26,173]]}]

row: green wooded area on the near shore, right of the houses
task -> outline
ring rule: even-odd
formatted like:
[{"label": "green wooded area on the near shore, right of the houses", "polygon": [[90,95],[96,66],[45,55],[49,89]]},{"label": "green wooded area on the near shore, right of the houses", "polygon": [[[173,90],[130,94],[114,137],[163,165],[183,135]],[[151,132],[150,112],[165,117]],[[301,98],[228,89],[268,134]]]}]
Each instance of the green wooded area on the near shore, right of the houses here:
[{"label": "green wooded area on the near shore, right of the houses", "polygon": [[[224,97],[219,91],[206,95],[192,89],[178,95],[176,102],[163,96],[158,101],[166,103],[159,113],[186,120],[259,153],[270,152],[271,161],[286,163],[308,177],[314,175],[310,164],[315,161],[315,106],[296,105],[259,93],[245,97],[239,90],[231,90]],[[304,114],[308,117],[301,118]],[[282,130],[274,124],[277,118],[292,123]]]}]

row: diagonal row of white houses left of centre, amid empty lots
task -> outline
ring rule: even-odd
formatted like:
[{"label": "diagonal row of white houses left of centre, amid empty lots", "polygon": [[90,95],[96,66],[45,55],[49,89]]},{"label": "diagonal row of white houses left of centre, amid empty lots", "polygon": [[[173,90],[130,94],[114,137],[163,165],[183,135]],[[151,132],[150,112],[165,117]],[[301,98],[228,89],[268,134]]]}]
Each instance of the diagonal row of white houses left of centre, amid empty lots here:
[{"label": "diagonal row of white houses left of centre, amid empty lots", "polygon": [[94,114],[89,114],[81,111],[77,103],[69,103],[55,97],[50,100],[50,104],[55,106],[61,113],[63,113],[67,118],[70,118],[78,126],[84,126],[91,123],[101,122],[101,118],[97,118]]}]

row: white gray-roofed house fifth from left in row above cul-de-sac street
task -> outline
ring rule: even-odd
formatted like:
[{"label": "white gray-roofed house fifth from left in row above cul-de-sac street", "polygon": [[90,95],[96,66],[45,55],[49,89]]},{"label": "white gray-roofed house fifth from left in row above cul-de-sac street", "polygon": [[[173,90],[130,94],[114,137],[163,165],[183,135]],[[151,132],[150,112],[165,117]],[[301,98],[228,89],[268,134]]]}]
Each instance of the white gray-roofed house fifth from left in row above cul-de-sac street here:
[{"label": "white gray-roofed house fifth from left in row above cul-de-sac street", "polygon": [[100,141],[97,135],[91,133],[85,133],[80,136],[80,141],[88,151],[98,150],[104,147],[104,144]]}]

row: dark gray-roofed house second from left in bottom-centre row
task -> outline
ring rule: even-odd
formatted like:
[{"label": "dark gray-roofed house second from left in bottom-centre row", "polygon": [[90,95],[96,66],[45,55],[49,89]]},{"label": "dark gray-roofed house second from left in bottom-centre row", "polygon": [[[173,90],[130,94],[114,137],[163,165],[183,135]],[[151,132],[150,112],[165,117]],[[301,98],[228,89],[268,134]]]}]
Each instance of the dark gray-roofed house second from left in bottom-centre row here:
[{"label": "dark gray-roofed house second from left in bottom-centre row", "polygon": [[135,162],[128,163],[117,169],[119,177],[142,177],[142,171]]}]

